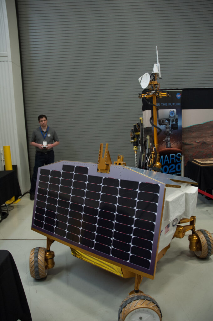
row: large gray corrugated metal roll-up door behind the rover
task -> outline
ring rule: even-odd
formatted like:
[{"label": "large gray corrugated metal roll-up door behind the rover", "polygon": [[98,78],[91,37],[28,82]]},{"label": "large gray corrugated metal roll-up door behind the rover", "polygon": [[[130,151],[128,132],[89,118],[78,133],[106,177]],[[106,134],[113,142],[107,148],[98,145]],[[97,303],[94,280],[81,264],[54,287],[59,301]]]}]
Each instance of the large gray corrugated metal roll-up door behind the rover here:
[{"label": "large gray corrugated metal roll-up door behind the rover", "polygon": [[156,45],[161,88],[212,87],[211,0],[17,0],[17,9],[29,139],[46,114],[61,142],[55,160],[97,162],[109,143],[113,161],[134,166],[138,78],[152,72]]}]

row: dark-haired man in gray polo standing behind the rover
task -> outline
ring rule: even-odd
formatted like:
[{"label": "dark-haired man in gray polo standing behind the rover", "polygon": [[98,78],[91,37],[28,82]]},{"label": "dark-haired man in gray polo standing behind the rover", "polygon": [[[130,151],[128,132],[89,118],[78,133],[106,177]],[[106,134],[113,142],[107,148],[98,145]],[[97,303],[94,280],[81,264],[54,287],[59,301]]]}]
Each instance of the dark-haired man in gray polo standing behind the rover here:
[{"label": "dark-haired man in gray polo standing behind the rover", "polygon": [[47,126],[45,115],[39,115],[38,122],[40,127],[33,131],[30,141],[30,145],[36,147],[35,166],[29,191],[31,201],[35,197],[38,167],[54,163],[53,147],[60,143],[56,131]]}]

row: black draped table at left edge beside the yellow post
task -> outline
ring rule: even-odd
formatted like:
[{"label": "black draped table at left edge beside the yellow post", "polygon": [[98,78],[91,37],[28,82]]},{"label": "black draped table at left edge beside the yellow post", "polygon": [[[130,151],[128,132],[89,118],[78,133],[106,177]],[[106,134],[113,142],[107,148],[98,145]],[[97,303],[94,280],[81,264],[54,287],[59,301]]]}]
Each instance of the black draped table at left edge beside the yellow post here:
[{"label": "black draped table at left edge beside the yellow post", "polygon": [[[21,195],[19,181],[14,170],[0,170],[0,205],[11,199],[13,196],[18,198]],[[0,206],[0,221],[2,211]]]}]

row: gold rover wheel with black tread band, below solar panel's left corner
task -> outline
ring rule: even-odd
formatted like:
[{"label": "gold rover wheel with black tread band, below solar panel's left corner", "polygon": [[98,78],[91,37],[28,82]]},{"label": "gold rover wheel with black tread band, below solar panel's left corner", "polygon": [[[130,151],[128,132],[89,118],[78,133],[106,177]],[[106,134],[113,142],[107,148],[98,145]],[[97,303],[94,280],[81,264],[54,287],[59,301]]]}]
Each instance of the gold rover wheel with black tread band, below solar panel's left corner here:
[{"label": "gold rover wheel with black tread band, below solar panel's left corner", "polygon": [[35,247],[30,252],[29,271],[34,279],[43,279],[47,276],[45,251],[46,249],[44,247]]}]

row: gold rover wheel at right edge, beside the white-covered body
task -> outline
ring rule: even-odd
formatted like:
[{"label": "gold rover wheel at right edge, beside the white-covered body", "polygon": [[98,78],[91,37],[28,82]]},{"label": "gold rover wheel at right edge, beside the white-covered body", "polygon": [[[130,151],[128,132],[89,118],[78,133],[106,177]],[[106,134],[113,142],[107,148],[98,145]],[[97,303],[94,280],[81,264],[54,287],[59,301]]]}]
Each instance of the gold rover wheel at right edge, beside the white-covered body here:
[{"label": "gold rover wheel at right edge, beside the white-covered body", "polygon": [[199,258],[207,258],[213,254],[213,238],[207,230],[197,230],[196,235],[201,242],[201,251],[195,251]]}]

